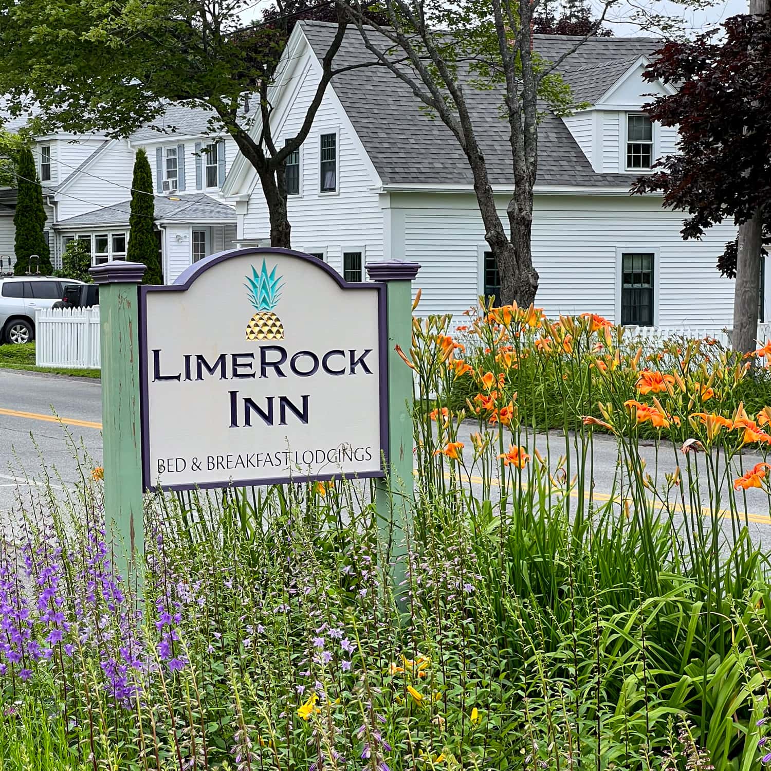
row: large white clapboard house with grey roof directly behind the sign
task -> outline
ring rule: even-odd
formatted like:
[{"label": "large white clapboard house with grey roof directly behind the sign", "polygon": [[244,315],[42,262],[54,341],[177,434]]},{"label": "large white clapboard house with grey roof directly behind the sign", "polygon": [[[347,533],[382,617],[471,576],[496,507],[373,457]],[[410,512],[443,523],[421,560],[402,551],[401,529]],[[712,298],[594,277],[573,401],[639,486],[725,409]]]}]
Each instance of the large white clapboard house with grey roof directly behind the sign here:
[{"label": "large white clapboard house with grey roof directly behind the sign", "polygon": [[[322,22],[295,27],[275,92],[277,144],[298,130],[334,32]],[[576,41],[536,35],[534,46],[554,61]],[[675,150],[676,131],[641,111],[647,95],[666,90],[641,78],[656,47],[651,39],[589,39],[561,66],[577,101],[590,106],[566,118],[547,113],[539,126],[537,303],[550,315],[592,311],[615,322],[722,328],[731,325],[733,285],[715,261],[734,227],[683,241],[682,214],[664,210],[661,197],[629,195],[635,177]],[[349,29],[335,65],[365,61],[372,55]],[[512,173],[500,94],[470,86],[467,94],[505,224]],[[252,130],[259,133],[258,122]],[[496,291],[466,160],[443,123],[426,116],[387,69],[352,69],[332,80],[308,139],[290,159],[288,183],[293,245],[346,279],[365,279],[370,261],[417,261],[423,314],[460,314]],[[241,155],[223,192],[235,202],[237,241],[268,244],[268,209]]]}]

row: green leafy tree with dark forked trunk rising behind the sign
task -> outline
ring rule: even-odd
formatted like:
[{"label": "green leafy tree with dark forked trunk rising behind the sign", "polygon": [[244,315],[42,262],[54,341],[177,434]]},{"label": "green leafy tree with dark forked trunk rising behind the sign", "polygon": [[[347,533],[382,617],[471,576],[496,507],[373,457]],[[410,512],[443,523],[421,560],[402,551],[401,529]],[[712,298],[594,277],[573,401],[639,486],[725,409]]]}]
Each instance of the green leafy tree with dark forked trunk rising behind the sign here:
[{"label": "green leafy tree with dark forked trunk rising behind the sign", "polygon": [[[34,97],[40,110],[35,130],[105,130],[126,136],[143,123],[152,124],[168,102],[210,109],[212,130],[227,131],[258,173],[271,244],[291,246],[284,164],[308,136],[332,77],[368,66],[362,62],[335,69],[348,23],[335,0],[278,0],[261,22],[246,28],[241,14],[253,0],[55,5],[52,24],[48,0],[0,0],[0,94],[15,105]],[[286,72],[278,62],[293,25],[298,19],[316,18],[316,12],[336,21],[337,31],[322,57],[318,85],[303,120],[279,142],[271,114],[280,84],[288,81],[282,79]],[[163,66],[158,66],[159,51]],[[256,96],[251,100],[256,109],[244,116],[249,94]],[[260,123],[258,136],[250,133],[252,121]]]}]

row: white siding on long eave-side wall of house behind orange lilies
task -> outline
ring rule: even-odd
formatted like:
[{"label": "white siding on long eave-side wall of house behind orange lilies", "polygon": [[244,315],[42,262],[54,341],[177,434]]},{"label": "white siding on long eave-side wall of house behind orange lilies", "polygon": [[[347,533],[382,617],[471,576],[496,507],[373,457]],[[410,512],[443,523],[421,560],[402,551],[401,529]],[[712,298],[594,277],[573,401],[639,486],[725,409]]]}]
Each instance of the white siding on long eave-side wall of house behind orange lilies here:
[{"label": "white siding on long eave-side wall of house behind orange lilies", "polygon": [[[414,284],[423,290],[420,315],[460,315],[475,305],[487,244],[473,197],[404,194],[392,197],[391,210],[392,241],[403,241],[404,257],[423,266]],[[592,312],[618,322],[617,250],[650,250],[658,254],[658,325],[730,325],[733,282],[718,274],[715,260],[735,228],[718,225],[702,241],[682,241],[680,227],[658,198],[537,195],[537,304],[550,316]]]}]

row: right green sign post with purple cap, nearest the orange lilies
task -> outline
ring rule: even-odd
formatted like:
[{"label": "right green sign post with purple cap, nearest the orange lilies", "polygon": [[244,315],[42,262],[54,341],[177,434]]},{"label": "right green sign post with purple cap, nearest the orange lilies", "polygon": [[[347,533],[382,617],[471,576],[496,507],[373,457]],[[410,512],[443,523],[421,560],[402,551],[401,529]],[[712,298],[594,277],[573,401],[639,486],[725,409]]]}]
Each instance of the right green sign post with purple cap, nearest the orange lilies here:
[{"label": "right green sign post with purple cap, nearest the orange lilies", "polygon": [[414,500],[412,446],[412,369],[396,353],[412,345],[412,280],[416,262],[375,262],[367,265],[372,281],[384,281],[387,291],[389,476],[378,480],[375,506],[386,537],[392,537],[390,561],[396,561],[393,580],[397,596],[406,591],[406,525]]}]

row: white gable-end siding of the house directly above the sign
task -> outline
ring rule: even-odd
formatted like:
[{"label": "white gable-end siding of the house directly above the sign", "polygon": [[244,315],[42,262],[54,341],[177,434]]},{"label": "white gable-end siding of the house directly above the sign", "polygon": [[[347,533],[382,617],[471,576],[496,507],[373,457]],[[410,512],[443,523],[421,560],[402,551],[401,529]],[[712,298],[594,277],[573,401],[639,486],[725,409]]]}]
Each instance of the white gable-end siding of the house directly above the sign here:
[{"label": "white gable-end siding of the house directly above the sign", "polygon": [[[281,126],[274,128],[277,146],[294,136],[305,117],[318,83],[318,67],[306,66],[292,109]],[[338,132],[338,193],[321,194],[319,144],[323,133]],[[327,261],[342,271],[343,251],[362,251],[362,260],[383,258],[383,213],[375,180],[362,158],[347,121],[329,89],[301,148],[301,195],[290,196],[288,214],[291,241],[303,251],[326,250]],[[246,214],[238,217],[238,238],[270,242],[268,205],[259,183],[254,185]]]}]

